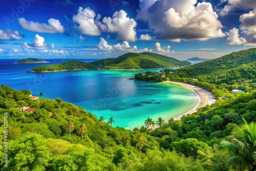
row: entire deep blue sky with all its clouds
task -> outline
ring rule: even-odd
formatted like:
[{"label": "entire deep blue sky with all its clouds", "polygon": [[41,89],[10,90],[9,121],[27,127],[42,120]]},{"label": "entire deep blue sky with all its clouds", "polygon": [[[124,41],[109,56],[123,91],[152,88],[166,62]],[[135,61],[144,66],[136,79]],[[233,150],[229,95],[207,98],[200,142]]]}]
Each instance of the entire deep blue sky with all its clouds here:
[{"label": "entire deep blue sky with all its clouds", "polygon": [[256,47],[255,0],[1,0],[1,58],[179,60]]}]

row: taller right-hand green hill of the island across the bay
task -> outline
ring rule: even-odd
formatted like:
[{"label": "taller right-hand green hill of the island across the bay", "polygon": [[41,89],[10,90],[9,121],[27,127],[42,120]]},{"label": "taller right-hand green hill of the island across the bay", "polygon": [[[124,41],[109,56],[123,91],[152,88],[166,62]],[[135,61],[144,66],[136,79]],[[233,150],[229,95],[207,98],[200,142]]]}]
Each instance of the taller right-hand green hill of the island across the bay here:
[{"label": "taller right-hand green hill of the island across the bay", "polygon": [[191,65],[188,61],[167,57],[155,53],[126,53],[117,58],[108,58],[91,62],[104,69],[153,69],[165,67],[184,67]]}]

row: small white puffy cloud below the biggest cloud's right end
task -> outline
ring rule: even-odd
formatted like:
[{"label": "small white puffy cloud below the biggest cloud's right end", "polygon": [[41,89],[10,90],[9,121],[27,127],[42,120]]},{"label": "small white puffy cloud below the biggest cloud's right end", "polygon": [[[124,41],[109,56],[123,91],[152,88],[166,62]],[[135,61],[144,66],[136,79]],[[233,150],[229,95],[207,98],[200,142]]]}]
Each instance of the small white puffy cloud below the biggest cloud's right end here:
[{"label": "small white puffy cloud below the biggest cloud's right end", "polygon": [[239,36],[239,30],[233,28],[229,30],[226,34],[228,35],[226,42],[229,45],[243,45],[246,43],[246,39],[244,37]]}]

